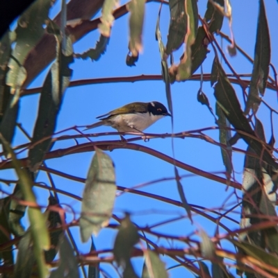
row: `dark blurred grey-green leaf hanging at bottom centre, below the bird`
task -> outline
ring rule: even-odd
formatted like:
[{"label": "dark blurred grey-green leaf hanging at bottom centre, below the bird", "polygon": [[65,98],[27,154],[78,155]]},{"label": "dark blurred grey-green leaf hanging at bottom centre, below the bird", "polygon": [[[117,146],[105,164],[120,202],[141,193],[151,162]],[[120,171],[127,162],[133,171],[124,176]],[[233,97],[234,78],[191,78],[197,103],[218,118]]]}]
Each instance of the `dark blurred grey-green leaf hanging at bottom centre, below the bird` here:
[{"label": "dark blurred grey-green leaf hanging at bottom centre, below the bird", "polygon": [[118,266],[126,266],[131,263],[131,251],[139,241],[137,227],[131,222],[129,214],[122,219],[119,232],[115,238],[113,254]]}]

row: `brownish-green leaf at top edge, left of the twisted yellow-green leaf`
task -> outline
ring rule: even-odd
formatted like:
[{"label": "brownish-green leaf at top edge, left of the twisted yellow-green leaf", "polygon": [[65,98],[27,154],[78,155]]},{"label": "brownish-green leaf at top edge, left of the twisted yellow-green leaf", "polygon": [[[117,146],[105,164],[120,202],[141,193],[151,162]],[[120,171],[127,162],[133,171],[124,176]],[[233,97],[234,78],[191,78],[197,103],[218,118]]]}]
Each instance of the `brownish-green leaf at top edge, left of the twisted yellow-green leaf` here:
[{"label": "brownish-green leaf at top edge, left of the twisted yellow-green leaf", "polygon": [[169,1],[170,25],[165,47],[165,53],[167,55],[179,49],[184,42],[184,37],[186,37],[187,15],[184,3],[184,0]]}]

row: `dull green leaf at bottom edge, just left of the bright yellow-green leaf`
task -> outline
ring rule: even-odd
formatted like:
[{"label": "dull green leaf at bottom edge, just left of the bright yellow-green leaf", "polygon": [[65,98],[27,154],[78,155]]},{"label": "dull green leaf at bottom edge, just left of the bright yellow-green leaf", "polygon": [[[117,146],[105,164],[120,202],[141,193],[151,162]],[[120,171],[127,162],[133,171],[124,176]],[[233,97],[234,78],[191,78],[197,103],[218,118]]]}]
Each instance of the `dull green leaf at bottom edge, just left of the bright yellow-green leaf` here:
[{"label": "dull green leaf at bottom edge, just left of the bright yellow-green leaf", "polygon": [[31,231],[28,230],[26,234],[24,234],[22,239],[19,241],[14,277],[30,278],[34,263],[35,254],[33,240],[31,236]]}]

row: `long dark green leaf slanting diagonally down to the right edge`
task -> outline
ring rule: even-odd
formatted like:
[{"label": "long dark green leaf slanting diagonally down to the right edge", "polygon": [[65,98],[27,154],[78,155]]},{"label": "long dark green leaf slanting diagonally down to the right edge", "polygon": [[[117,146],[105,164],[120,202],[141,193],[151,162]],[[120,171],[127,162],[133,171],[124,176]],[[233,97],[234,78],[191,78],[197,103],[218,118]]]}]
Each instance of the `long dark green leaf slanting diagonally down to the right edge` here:
[{"label": "long dark green leaf slanting diagonally down to the right edge", "polygon": [[[231,83],[229,82],[226,73],[224,73],[224,70],[222,69],[222,66],[217,57],[215,57],[213,62],[211,78],[211,83],[215,84],[215,98],[218,101],[218,105],[220,105],[222,108],[222,111],[227,117],[229,123],[231,123],[231,125],[233,125],[236,130],[247,132],[247,134],[256,137],[254,130],[252,130],[250,123],[241,110],[240,103],[236,97],[236,92],[231,86]],[[270,166],[274,167],[275,169],[278,168],[278,165],[273,159],[272,155],[270,155],[270,153],[267,151],[263,151],[263,145],[261,142],[250,138],[250,136],[247,136],[246,134],[240,134],[240,137],[242,137],[243,140],[255,151],[257,155],[259,155],[259,157],[262,157],[265,162],[270,164]]]}]

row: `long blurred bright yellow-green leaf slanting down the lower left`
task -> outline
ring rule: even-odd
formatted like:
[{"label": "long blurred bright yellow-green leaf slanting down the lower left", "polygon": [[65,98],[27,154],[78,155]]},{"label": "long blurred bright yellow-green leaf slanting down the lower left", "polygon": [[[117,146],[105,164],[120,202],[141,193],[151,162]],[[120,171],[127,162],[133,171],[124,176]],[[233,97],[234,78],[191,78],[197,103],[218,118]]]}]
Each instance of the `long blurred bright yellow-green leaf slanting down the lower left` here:
[{"label": "long blurred bright yellow-green leaf slanting down the lower left", "polygon": [[13,149],[10,148],[10,145],[1,134],[0,139],[6,150],[10,154],[10,157],[12,158],[13,165],[19,179],[19,186],[24,196],[24,200],[35,205],[35,207],[28,208],[28,218],[30,221],[35,260],[38,264],[38,272],[40,277],[46,277],[48,274],[48,270],[44,261],[43,250],[48,250],[50,245],[46,219],[42,215],[42,212],[40,211],[36,203],[35,195],[32,191],[33,181],[31,180],[30,175],[28,175],[25,168],[22,168],[22,165],[19,160],[17,160]]}]

